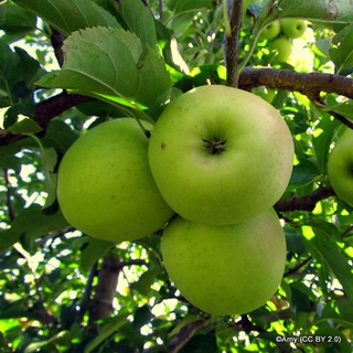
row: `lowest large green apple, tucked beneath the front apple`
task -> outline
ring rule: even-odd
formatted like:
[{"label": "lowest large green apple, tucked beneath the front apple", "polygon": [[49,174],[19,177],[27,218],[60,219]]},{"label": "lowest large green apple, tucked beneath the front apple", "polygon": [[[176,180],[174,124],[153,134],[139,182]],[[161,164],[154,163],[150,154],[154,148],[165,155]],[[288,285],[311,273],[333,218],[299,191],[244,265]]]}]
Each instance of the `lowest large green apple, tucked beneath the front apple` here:
[{"label": "lowest large green apple, tucked beneath the front apple", "polygon": [[286,239],[276,212],[234,225],[180,216],[161,240],[164,267],[192,304],[211,314],[242,314],[276,292],[286,265]]}]

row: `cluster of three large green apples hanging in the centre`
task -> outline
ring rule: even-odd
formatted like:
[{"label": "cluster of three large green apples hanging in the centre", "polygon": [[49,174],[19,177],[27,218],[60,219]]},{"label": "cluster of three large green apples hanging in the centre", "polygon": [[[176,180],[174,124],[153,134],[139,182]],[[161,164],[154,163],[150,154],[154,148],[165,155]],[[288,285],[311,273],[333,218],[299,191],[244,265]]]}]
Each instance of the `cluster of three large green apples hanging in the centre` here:
[{"label": "cluster of three large green apples hanging in the centre", "polygon": [[164,227],[161,253],[181,293],[212,314],[240,314],[277,290],[286,240],[274,204],[293,142],[260,97],[221,85],[174,99],[154,126],[118,118],[65,153],[57,200],[86,234],[119,243]]}]

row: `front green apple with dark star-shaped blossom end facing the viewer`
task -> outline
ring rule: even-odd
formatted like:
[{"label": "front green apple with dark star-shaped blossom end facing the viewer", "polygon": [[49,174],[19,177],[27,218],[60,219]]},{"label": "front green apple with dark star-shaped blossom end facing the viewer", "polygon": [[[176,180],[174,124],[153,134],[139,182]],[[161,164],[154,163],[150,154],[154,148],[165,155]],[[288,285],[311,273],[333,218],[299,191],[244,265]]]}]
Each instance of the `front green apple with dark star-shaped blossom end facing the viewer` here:
[{"label": "front green apple with dark star-shaped blossom end facing the viewer", "polygon": [[233,224],[270,208],[291,175],[293,142],[263,98],[212,85],[179,96],[154,125],[152,175],[182,217]]}]

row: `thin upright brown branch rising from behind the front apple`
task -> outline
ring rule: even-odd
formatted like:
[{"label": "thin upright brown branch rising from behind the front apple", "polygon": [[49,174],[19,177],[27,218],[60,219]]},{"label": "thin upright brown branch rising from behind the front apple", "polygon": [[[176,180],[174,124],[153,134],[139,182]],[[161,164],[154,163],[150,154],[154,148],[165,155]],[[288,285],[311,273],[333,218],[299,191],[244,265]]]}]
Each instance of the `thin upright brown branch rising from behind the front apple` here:
[{"label": "thin upright brown branch rising from behind the front apple", "polygon": [[237,46],[243,13],[243,0],[233,0],[231,12],[231,33],[226,35],[227,85],[237,87]]}]

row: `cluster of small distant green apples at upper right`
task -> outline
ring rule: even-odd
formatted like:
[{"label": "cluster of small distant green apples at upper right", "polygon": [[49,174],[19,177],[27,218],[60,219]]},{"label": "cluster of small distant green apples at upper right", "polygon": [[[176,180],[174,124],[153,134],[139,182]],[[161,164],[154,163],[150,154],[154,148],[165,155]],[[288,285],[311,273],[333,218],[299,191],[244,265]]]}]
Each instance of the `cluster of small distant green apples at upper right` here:
[{"label": "cluster of small distant green apples at upper right", "polygon": [[276,53],[275,62],[287,62],[292,51],[291,40],[300,38],[307,29],[301,19],[281,19],[269,23],[260,39],[269,41],[270,52]]}]

